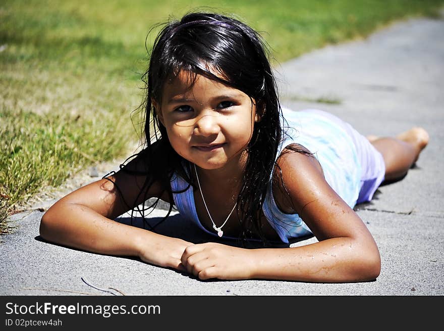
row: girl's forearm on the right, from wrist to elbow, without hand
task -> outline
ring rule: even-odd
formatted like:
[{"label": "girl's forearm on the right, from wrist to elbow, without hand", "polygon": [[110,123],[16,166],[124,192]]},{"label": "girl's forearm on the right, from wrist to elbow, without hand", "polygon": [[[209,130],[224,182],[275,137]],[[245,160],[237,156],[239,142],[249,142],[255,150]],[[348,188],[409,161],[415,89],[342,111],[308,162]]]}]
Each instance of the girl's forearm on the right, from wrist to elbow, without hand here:
[{"label": "girl's forearm on the right, from wrist to elbow, without hand", "polygon": [[377,247],[350,238],[333,238],[295,248],[253,251],[253,278],[353,282],[373,280],[380,272]]}]

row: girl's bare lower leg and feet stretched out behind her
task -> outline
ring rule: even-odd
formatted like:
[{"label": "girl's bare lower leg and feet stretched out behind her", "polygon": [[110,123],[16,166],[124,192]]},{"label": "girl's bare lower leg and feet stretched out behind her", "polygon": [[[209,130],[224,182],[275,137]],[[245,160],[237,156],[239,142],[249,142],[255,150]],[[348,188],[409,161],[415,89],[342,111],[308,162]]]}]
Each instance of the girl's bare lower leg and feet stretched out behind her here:
[{"label": "girl's bare lower leg and feet stretched out behind her", "polygon": [[385,180],[396,180],[418,160],[419,154],[427,146],[429,136],[421,127],[413,127],[393,137],[367,137],[378,150],[385,163]]}]

